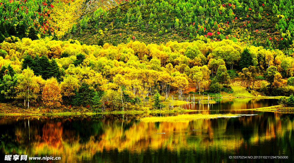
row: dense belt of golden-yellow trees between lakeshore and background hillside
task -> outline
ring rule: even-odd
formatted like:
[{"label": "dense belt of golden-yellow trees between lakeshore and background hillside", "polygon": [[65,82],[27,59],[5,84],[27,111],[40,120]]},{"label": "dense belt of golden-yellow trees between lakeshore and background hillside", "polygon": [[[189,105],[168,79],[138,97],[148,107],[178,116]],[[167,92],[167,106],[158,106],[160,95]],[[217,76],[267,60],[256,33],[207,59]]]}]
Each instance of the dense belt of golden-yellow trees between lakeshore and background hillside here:
[{"label": "dense belt of golden-yellow trees between lakeshore and background hillside", "polygon": [[[226,52],[225,47],[233,47],[237,53]],[[54,108],[62,104],[84,107],[100,104],[102,108],[125,110],[148,104],[156,92],[165,99],[173,92],[180,100],[189,87],[195,87],[199,93],[208,86],[212,92],[219,92],[220,84],[230,83],[232,73],[227,68],[240,68],[242,63],[230,58],[239,60],[248,56],[250,64],[243,62],[248,67],[239,75],[249,88],[263,80],[263,75],[269,83],[268,89],[287,87],[290,91],[293,85],[292,57],[280,50],[248,47],[231,40],[147,46],[130,41],[117,46],[105,43],[101,47],[81,45],[77,40],[56,41],[51,36],[33,41],[29,38],[14,43],[4,41],[0,48],[7,53],[5,58],[0,57],[1,97],[6,102],[16,100],[25,105],[43,102]],[[273,58],[268,62],[266,56]]]}]

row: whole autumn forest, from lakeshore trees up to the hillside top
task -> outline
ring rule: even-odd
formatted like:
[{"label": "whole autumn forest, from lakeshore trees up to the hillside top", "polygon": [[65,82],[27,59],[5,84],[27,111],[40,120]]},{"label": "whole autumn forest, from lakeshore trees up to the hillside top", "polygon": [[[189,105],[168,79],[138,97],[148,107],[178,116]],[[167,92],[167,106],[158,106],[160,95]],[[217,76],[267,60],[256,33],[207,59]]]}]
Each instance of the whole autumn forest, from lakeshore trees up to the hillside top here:
[{"label": "whole autumn forest, from lakeshore trees up to the hillside top", "polygon": [[284,0],[4,0],[0,102],[147,111],[238,96],[231,85],[290,96],[293,13]]}]

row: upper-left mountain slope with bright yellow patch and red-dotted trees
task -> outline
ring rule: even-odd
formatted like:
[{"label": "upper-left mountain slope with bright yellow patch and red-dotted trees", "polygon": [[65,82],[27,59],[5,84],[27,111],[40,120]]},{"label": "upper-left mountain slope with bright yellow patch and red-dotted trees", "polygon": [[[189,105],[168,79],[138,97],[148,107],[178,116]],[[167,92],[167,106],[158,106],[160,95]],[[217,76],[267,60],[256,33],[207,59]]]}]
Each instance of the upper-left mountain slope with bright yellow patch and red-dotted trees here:
[{"label": "upper-left mountain slope with bright yellow patch and red-dotted trees", "polygon": [[[96,8],[108,9],[119,1],[88,0],[1,0],[0,42],[9,36],[20,39],[28,36],[30,27],[40,37],[59,35],[61,37],[72,25]],[[34,31],[35,32],[35,31]],[[11,37],[12,41],[16,41]]]}]

